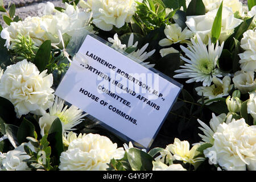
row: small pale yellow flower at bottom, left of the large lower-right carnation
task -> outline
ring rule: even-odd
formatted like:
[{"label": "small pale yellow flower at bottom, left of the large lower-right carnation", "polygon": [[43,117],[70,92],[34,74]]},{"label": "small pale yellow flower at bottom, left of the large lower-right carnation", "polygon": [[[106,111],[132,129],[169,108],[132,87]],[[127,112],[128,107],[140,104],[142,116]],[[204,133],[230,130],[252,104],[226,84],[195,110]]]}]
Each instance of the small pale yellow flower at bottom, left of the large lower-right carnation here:
[{"label": "small pale yellow flower at bottom, left of the large lower-right carnation", "polygon": [[174,154],[174,159],[182,160],[184,163],[195,164],[196,162],[204,160],[204,158],[195,158],[196,150],[200,147],[200,144],[196,144],[189,150],[188,141],[180,141],[178,138],[174,139],[174,144],[170,144],[167,146],[168,151]]}]

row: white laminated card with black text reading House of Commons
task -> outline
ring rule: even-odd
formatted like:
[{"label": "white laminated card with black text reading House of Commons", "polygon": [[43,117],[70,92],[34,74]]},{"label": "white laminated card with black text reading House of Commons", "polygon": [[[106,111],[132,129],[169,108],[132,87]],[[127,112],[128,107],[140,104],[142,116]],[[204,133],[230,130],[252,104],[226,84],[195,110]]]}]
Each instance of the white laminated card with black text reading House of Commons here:
[{"label": "white laminated card with black text reading House of Commons", "polygon": [[180,90],[87,35],[55,94],[148,148]]}]

